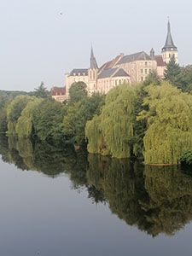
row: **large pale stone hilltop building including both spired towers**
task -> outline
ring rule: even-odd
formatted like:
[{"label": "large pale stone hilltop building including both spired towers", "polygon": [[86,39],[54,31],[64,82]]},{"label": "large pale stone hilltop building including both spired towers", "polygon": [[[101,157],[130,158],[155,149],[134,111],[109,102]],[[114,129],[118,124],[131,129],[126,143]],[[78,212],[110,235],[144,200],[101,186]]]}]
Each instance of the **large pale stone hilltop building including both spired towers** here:
[{"label": "large pale stone hilltop building including both spired towers", "polygon": [[87,85],[88,95],[92,95],[94,92],[107,94],[108,90],[119,84],[136,84],[145,80],[152,70],[163,78],[166,64],[172,55],[177,61],[177,47],[172,40],[170,21],[167,24],[166,44],[161,55],[155,55],[153,48],[149,55],[144,51],[131,55],[120,54],[99,68],[91,48],[90,67],[73,69],[71,73],[66,73],[66,96],[69,96],[70,86],[79,81]]}]

